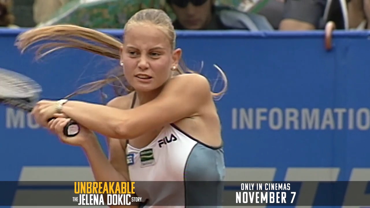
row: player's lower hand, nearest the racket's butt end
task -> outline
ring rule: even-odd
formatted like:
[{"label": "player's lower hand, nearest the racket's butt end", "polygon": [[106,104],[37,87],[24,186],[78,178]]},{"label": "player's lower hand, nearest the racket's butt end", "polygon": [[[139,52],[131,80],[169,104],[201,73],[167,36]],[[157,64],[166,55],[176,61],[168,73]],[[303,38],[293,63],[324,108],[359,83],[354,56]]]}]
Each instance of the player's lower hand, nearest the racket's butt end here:
[{"label": "player's lower hand, nearest the racket's butt end", "polygon": [[60,138],[61,142],[65,144],[70,144],[73,146],[83,146],[89,141],[92,141],[96,139],[96,136],[94,132],[88,130],[87,128],[80,126],[80,132],[74,136],[74,137],[66,137],[63,134],[63,129],[65,125],[68,124],[70,121],[70,118],[55,118],[51,120],[48,124],[47,127],[52,131],[53,133],[57,134],[58,137]]}]

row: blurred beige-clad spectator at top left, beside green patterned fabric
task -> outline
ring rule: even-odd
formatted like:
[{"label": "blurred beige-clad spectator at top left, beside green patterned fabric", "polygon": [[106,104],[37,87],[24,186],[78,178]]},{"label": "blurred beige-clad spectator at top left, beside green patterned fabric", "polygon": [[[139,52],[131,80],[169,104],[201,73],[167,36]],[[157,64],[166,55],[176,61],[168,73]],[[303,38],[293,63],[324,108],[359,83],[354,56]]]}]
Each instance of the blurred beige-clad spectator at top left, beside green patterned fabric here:
[{"label": "blurred beige-clad spectator at top left, beside green patterned fabric", "polygon": [[35,0],[33,4],[33,19],[36,24],[50,19],[53,14],[70,0]]}]

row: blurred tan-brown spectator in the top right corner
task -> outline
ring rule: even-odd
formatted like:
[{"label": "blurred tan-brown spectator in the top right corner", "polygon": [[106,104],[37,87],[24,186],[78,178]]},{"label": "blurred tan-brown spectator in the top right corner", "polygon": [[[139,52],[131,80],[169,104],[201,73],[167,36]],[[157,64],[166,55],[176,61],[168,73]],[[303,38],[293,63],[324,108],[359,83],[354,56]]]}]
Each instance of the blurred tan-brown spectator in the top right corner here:
[{"label": "blurred tan-brown spectator in the top right corner", "polygon": [[350,28],[370,29],[370,1],[350,0],[348,3],[348,15]]}]

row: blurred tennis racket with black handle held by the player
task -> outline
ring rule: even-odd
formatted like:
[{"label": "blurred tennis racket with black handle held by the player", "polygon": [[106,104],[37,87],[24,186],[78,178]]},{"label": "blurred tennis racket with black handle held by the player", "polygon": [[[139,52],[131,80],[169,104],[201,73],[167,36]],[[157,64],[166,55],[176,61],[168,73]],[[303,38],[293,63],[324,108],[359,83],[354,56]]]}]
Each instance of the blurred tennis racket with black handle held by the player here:
[{"label": "blurred tennis racket with black handle held by the player", "polygon": [[[31,78],[0,68],[0,104],[31,112],[40,98],[41,86]],[[48,121],[54,118],[49,118]],[[77,122],[71,120],[63,130],[67,137],[80,132]]]}]

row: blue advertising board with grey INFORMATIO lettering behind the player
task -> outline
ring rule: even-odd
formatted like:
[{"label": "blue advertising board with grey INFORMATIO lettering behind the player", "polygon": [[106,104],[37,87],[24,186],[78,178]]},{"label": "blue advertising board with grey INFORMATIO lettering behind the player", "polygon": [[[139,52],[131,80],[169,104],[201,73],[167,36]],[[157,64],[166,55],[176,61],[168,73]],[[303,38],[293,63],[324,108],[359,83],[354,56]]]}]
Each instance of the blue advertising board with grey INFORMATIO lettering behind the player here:
[{"label": "blue advertising board with grey INFORMATIO lettering behind the player", "polygon": [[[36,62],[14,46],[19,32],[0,30],[0,67],[36,80],[45,98],[64,97],[118,66],[78,50]],[[203,61],[202,74],[215,80],[217,64],[228,77],[216,103],[227,180],[370,181],[369,34],[336,32],[328,52],[320,31],[178,33],[189,68]],[[101,102],[99,93],[76,99]],[[81,149],[62,144],[28,114],[0,107],[0,118],[2,181],[91,177]]]}]

